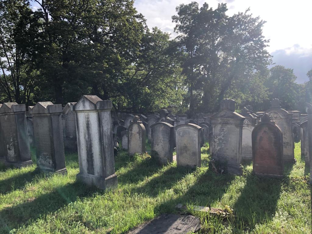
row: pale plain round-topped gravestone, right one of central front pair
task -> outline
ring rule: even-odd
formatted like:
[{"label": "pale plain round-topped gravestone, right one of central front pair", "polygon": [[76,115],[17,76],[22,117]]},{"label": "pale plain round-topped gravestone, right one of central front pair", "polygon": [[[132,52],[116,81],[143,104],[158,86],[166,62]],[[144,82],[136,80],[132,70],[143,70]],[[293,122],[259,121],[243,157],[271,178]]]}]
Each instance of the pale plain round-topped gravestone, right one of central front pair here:
[{"label": "pale plain round-topped gravestone, right one of central front pair", "polygon": [[177,166],[201,167],[201,127],[195,124],[179,124],[175,128]]}]

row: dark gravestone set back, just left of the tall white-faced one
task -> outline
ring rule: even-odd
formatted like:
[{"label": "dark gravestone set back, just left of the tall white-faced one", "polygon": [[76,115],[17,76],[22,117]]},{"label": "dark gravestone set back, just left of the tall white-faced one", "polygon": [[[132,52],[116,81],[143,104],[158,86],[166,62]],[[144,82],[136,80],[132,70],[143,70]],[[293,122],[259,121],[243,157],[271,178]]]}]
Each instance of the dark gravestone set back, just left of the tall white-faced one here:
[{"label": "dark gravestone set back, just left of the tall white-faced one", "polygon": [[69,102],[64,107],[62,113],[65,120],[64,149],[68,152],[77,152],[77,131],[75,113],[71,110],[76,102]]}]

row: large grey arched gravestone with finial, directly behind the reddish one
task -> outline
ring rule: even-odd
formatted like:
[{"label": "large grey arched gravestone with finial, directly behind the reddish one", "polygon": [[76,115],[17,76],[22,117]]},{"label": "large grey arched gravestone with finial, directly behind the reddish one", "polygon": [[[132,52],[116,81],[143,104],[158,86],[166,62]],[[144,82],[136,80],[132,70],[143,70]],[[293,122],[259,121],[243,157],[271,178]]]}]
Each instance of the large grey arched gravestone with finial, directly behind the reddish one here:
[{"label": "large grey arched gravestone with finial, directly behind the reddish one", "polygon": [[292,132],[292,113],[281,109],[280,101],[274,98],[271,101],[271,108],[266,111],[275,121],[275,124],[280,127],[283,133],[283,153],[284,162],[293,162],[295,159],[294,154],[294,137]]}]

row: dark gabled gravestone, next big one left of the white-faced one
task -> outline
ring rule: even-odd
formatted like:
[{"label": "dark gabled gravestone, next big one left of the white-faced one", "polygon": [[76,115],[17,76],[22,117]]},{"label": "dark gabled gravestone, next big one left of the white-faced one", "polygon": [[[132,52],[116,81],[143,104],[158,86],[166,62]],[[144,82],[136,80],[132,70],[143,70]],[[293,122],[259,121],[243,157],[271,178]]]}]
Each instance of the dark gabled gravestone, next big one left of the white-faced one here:
[{"label": "dark gabled gravestone, next big one left of the white-faced one", "polygon": [[34,124],[37,167],[46,173],[66,174],[62,132],[62,105],[37,102],[28,107]]}]

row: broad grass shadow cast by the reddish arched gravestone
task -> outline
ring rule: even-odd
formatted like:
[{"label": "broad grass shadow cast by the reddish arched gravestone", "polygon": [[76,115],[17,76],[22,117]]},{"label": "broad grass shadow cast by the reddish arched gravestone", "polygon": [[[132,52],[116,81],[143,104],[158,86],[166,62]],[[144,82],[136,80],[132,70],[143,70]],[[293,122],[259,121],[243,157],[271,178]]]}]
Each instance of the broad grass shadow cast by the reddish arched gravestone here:
[{"label": "broad grass shadow cast by the reddish arched gravestone", "polygon": [[246,185],[235,202],[236,231],[252,231],[256,224],[271,219],[280,197],[282,178],[247,175]]}]

